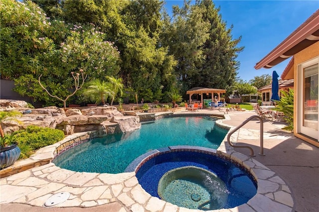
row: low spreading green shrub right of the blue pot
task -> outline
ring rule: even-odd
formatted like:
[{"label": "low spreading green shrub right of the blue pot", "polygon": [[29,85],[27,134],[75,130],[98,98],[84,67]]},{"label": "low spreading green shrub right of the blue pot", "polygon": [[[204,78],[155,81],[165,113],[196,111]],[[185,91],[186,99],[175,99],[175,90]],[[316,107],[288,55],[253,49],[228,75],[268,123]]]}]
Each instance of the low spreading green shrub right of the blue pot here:
[{"label": "low spreading green shrub right of the blue pot", "polygon": [[61,141],[64,138],[64,133],[61,130],[29,126],[25,130],[14,132],[13,136],[21,149],[19,159],[25,159],[35,150]]}]

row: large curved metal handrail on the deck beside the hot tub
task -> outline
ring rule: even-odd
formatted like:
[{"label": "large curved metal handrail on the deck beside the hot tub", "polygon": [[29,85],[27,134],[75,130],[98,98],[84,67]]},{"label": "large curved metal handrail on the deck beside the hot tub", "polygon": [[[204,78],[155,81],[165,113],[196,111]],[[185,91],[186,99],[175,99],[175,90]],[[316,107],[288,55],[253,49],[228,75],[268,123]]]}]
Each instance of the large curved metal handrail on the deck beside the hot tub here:
[{"label": "large curved metal handrail on the deck beside the hot tub", "polygon": [[257,115],[253,115],[251,117],[249,117],[248,119],[246,119],[243,123],[241,123],[239,126],[237,126],[234,130],[232,130],[228,136],[227,136],[227,142],[230,146],[232,147],[238,147],[238,148],[249,148],[250,150],[250,156],[256,156],[254,154],[254,150],[252,147],[250,146],[246,146],[246,145],[242,145],[242,146],[234,146],[231,142],[230,142],[230,137],[233,133],[235,133],[237,130],[239,130],[242,126],[244,126],[245,124],[247,124],[247,122],[249,122],[250,120],[254,119],[254,118],[257,118],[260,120],[260,152],[259,154],[260,155],[263,155],[265,156],[264,154],[264,123],[263,123],[263,119],[260,117],[260,116],[257,116]]}]

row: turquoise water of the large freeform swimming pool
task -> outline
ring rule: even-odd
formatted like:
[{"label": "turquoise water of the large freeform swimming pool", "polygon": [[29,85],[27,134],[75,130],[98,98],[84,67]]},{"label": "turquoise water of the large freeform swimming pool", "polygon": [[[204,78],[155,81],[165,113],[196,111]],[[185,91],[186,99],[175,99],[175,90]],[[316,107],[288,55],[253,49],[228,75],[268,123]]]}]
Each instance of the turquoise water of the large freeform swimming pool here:
[{"label": "turquoise water of the large freeform swimming pool", "polygon": [[227,131],[205,117],[163,118],[141,129],[93,139],[74,146],[53,160],[79,172],[121,173],[138,156],[160,147],[193,145],[217,149]]}]

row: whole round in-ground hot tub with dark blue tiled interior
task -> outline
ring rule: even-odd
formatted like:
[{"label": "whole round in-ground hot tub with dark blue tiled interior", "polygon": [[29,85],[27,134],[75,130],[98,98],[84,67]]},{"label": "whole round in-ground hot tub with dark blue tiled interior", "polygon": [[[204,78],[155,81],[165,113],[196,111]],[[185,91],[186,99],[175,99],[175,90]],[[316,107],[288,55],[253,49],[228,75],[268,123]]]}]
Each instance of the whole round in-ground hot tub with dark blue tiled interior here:
[{"label": "whole round in-ground hot tub with dark blue tiled interior", "polygon": [[254,177],[215,149],[173,146],[153,150],[133,161],[141,186],[152,196],[178,207],[228,209],[247,203],[257,193]]}]

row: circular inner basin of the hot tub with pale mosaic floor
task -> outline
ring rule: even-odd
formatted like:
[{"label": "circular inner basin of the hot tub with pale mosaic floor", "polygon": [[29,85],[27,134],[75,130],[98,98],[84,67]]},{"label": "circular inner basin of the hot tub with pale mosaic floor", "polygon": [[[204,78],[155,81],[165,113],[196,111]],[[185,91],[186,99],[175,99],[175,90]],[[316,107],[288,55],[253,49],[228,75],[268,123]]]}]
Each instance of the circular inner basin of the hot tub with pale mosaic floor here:
[{"label": "circular inner basin of the hot tub with pale mosaic floor", "polygon": [[174,205],[201,210],[221,209],[228,198],[225,183],[214,173],[196,166],[166,172],[160,178],[158,194]]}]

